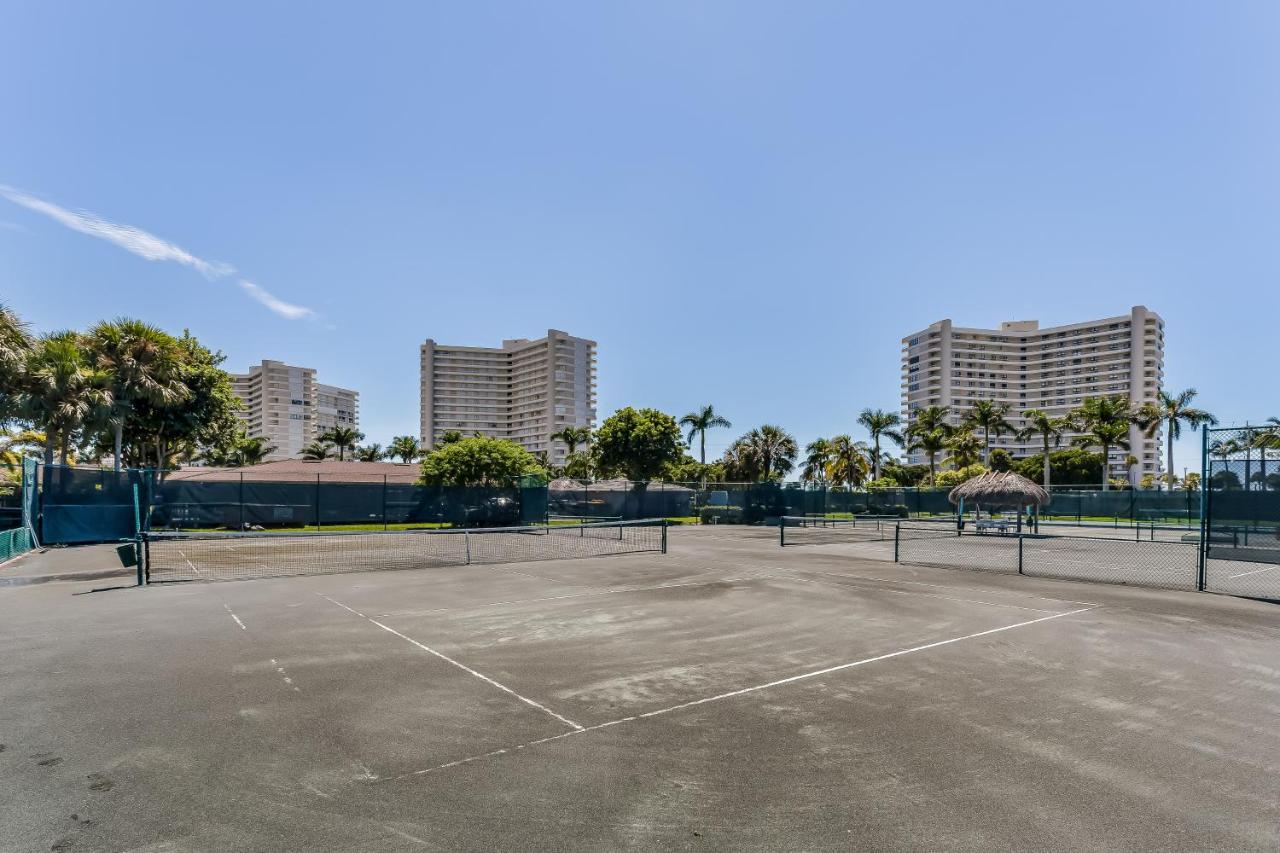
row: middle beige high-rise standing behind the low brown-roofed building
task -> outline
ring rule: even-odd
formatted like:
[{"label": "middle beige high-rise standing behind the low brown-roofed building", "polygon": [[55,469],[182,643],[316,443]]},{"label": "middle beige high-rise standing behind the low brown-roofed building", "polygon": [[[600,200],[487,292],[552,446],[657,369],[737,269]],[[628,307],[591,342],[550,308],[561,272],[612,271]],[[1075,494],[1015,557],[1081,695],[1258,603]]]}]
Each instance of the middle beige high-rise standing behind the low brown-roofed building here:
[{"label": "middle beige high-rise standing behind the low brown-roofed building", "polygon": [[567,448],[552,441],[564,426],[595,426],[595,341],[549,329],[536,341],[462,347],[426,341],[420,348],[422,447],[447,432],[507,438],[553,465]]}]

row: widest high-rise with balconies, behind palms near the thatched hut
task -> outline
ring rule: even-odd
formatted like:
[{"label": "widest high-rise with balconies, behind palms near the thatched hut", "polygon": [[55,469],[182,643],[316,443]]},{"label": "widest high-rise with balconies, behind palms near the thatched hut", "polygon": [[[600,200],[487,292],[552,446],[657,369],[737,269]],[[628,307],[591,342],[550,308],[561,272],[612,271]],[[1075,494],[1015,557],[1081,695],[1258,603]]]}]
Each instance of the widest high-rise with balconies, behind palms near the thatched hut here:
[{"label": "widest high-rise with balconies, behind palms near the thatched hut", "polygon": [[[940,320],[902,338],[902,419],[911,421],[925,406],[946,406],[959,424],[979,400],[1009,403],[1007,419],[1024,426],[1023,412],[1039,409],[1066,415],[1087,397],[1126,396],[1132,403],[1155,402],[1164,383],[1165,323],[1142,305],[1129,314],[1069,325],[1039,328],[1038,320],[1001,323],[998,329],[968,329]],[[1070,444],[1076,433],[1062,438]],[[1038,438],[992,438],[1015,459],[1042,452]],[[1096,450],[1096,448],[1094,448]],[[1129,470],[1129,455],[1138,464]],[[924,453],[908,455],[913,465]],[[1110,476],[1134,482],[1158,474],[1160,434],[1148,438],[1129,430],[1129,450],[1112,448]]]}]

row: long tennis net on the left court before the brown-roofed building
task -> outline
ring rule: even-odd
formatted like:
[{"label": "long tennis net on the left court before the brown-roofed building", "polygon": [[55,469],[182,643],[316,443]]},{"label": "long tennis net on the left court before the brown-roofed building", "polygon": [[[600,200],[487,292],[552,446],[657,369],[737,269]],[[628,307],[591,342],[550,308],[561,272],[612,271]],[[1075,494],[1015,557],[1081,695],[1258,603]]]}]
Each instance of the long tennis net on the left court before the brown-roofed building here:
[{"label": "long tennis net on the left court before the brown-roofed building", "polygon": [[667,552],[662,520],[463,530],[143,534],[148,581],[429,569]]}]

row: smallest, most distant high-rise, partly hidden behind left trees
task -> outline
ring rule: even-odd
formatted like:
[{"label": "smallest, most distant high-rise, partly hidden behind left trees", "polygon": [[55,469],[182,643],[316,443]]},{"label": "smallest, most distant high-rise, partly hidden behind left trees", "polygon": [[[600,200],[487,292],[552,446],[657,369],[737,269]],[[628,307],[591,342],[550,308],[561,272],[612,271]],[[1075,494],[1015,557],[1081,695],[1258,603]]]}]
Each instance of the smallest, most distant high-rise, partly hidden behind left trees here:
[{"label": "smallest, most distant high-rise, partly hidden behind left trees", "polygon": [[312,368],[268,359],[248,373],[233,373],[232,388],[241,400],[244,432],[275,448],[268,461],[301,456],[333,426],[358,428],[360,394],[316,383]]}]

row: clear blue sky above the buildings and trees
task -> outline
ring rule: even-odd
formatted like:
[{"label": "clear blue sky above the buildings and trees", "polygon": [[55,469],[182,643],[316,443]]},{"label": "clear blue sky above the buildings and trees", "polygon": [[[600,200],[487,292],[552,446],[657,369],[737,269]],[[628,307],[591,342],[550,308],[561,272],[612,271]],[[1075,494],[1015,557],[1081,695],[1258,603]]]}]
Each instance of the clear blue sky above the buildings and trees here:
[{"label": "clear blue sky above the buildings and trees", "polygon": [[602,415],[806,442],[896,409],[933,320],[1135,304],[1171,386],[1257,420],[1277,44],[1243,1],[3,0],[0,300],[312,365],[384,443],[428,337],[562,328],[600,343]]}]

